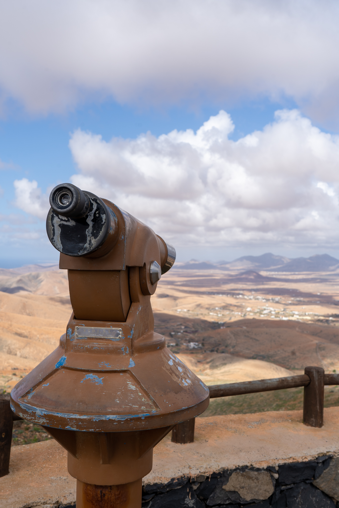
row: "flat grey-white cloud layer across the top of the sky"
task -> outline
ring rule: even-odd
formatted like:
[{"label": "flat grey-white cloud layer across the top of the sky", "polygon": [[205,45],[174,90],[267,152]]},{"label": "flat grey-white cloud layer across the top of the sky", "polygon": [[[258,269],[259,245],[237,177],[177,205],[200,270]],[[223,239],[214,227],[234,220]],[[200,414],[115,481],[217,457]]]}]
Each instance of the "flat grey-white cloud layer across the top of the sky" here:
[{"label": "flat grey-white cloud layer across the top of the sky", "polygon": [[284,94],[333,119],[338,23],[334,0],[3,2],[0,96],[44,113]]}]

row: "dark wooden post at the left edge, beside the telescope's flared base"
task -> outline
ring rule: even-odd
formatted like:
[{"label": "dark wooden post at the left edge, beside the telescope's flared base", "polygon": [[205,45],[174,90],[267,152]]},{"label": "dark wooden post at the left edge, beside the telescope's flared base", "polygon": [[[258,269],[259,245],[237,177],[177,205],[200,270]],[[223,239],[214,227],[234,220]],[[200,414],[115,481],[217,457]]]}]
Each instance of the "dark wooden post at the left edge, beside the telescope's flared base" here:
[{"label": "dark wooden post at the left edge, beside the telescope's flared base", "polygon": [[13,417],[10,395],[0,395],[0,477],[9,473]]}]

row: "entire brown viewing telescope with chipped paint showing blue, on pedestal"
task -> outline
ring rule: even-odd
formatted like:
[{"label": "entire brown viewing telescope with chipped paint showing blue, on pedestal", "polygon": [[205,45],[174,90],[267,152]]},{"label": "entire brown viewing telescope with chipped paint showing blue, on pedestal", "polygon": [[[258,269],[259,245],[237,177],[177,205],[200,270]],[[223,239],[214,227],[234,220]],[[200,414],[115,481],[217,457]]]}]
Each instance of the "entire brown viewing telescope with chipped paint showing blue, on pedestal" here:
[{"label": "entire brown viewing telescope with chipped paint showing blue, on pedestal", "polygon": [[150,296],[175,249],[75,185],[50,195],[47,234],[73,313],[59,346],[12,390],[15,414],[68,451],[77,508],[140,508],[153,447],[201,414],[209,392],[154,332]]}]

